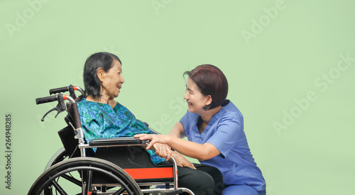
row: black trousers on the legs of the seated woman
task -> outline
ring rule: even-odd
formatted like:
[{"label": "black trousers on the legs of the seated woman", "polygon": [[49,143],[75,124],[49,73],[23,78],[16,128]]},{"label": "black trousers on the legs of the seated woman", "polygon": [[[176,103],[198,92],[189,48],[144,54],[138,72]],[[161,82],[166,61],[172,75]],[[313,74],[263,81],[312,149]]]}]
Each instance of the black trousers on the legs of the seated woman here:
[{"label": "black trousers on the legs of the seated woman", "polygon": [[196,169],[178,166],[179,187],[190,189],[195,195],[222,194],[223,177],[219,169],[209,165],[194,165]]}]

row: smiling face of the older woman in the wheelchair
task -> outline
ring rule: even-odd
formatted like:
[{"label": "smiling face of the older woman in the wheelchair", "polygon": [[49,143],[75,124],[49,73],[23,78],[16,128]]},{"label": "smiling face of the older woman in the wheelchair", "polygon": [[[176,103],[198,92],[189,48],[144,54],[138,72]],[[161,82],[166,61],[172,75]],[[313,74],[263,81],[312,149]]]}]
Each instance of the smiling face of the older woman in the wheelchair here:
[{"label": "smiling face of the older woman in the wheelchair", "polygon": [[105,99],[112,100],[119,96],[119,91],[124,83],[122,67],[119,61],[114,60],[114,66],[102,73],[102,90]]}]

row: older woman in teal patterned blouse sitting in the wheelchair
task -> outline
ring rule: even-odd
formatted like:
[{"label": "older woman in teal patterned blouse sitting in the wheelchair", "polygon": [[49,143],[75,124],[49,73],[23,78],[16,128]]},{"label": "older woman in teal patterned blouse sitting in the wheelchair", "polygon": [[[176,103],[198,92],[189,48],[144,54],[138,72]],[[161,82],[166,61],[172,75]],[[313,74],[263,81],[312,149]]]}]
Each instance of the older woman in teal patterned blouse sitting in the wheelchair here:
[{"label": "older woman in teal patterned blouse sitting in the wheelchair", "polygon": [[[87,58],[84,65],[84,87],[87,98],[77,103],[88,142],[97,138],[133,137],[140,133],[153,133],[142,121],[114,98],[119,96],[124,77],[119,57],[108,52],[97,52]],[[155,144],[155,152],[148,150],[154,164],[160,165],[170,158],[178,163],[178,184],[195,194],[214,194],[215,186],[222,183],[222,174],[215,167],[201,166],[197,170],[168,145]]]}]

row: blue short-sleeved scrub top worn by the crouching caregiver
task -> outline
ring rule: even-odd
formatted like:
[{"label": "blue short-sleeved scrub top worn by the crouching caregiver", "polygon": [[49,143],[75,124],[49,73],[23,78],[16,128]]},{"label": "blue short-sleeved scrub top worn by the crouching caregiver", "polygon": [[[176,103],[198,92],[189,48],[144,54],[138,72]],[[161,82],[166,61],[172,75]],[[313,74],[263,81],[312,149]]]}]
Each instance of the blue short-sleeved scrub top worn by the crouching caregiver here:
[{"label": "blue short-sleeved scrub top worn by the crouching caregiver", "polygon": [[251,155],[244,133],[243,116],[231,101],[226,100],[220,111],[214,114],[207,127],[200,134],[197,113],[187,111],[180,120],[188,140],[195,143],[211,143],[219,152],[216,157],[200,161],[201,164],[217,167],[223,174],[223,181],[229,185],[249,185],[257,191],[266,189],[265,179]]}]

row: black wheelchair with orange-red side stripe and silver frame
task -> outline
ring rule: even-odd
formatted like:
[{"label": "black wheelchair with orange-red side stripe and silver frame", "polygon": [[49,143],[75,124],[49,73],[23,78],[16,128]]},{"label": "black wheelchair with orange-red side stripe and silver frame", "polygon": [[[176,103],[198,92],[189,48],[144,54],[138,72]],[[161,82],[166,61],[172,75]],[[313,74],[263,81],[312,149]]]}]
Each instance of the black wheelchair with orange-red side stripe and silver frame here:
[{"label": "black wheelchair with orange-red side stripe and silver frame", "polygon": [[[70,95],[64,94],[67,91]],[[77,97],[75,91],[81,95]],[[146,140],[109,138],[85,143],[76,104],[84,98],[80,87],[50,89],[50,95],[36,99],[36,104],[58,101],[42,121],[52,111],[58,111],[55,117],[67,111],[67,126],[58,131],[63,147],[49,160],[28,195],[193,194],[190,189],[178,187],[178,166],[173,157],[171,165],[151,162],[142,147],[148,144]],[[65,100],[69,102],[65,104]],[[94,147],[96,152],[87,150]]]}]

